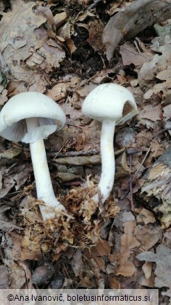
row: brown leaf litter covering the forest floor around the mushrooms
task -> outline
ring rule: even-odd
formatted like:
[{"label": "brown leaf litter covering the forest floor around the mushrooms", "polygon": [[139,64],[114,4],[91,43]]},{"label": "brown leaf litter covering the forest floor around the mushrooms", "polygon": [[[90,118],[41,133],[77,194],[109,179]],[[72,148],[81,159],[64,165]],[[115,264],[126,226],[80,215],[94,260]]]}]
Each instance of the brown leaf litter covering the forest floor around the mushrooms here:
[{"label": "brown leaf litter covering the forest floor around the mushrooms", "polygon": [[[65,111],[67,125],[45,146],[67,214],[42,222],[29,148],[1,140],[1,288],[28,287],[27,279],[43,272],[40,287],[148,286],[165,288],[170,297],[171,58],[165,29],[171,6],[166,11],[165,1],[144,2],[17,0],[2,6],[0,103],[38,91]],[[145,13],[149,8],[154,15]],[[101,210],[91,199],[101,171],[101,124],[83,117],[81,105],[105,82],[129,87],[139,114],[116,128],[115,185]],[[49,260],[55,274],[51,268],[47,274]]]}]

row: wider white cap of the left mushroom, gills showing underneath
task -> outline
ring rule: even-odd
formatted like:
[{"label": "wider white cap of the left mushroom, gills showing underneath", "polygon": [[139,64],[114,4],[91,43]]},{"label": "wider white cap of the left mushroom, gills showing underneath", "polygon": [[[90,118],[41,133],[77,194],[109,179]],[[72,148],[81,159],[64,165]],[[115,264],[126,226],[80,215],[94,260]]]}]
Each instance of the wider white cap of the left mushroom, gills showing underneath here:
[{"label": "wider white cap of the left mushroom, gills showing underneath", "polygon": [[[38,118],[40,127],[27,132],[26,118]],[[63,110],[42,93],[19,93],[8,100],[0,112],[0,135],[10,141],[32,143],[59,130],[65,125]]]}]

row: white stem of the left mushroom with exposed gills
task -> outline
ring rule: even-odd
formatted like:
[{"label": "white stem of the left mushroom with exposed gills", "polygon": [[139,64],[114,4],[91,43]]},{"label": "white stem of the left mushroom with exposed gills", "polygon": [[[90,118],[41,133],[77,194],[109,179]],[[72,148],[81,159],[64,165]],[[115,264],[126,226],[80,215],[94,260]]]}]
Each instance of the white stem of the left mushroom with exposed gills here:
[{"label": "white stem of the left mushroom with exposed gills", "polygon": [[[32,133],[36,128],[40,127],[38,118],[26,118],[27,131]],[[43,220],[51,219],[56,216],[51,208],[56,211],[65,210],[63,205],[57,200],[54,189],[51,184],[51,176],[47,164],[47,155],[44,147],[43,139],[38,139],[30,143],[31,159],[33,163],[33,172],[35,176],[35,186],[38,199],[44,201],[46,206],[40,205],[40,212]]]}]

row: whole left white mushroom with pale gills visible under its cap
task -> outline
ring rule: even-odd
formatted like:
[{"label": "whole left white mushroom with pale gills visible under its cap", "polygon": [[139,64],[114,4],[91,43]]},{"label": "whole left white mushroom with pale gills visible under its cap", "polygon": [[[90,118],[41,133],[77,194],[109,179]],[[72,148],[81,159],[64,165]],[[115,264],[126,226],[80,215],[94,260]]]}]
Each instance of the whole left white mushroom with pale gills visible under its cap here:
[{"label": "whole left white mushroom with pale gills visible under its cap", "polygon": [[45,203],[40,205],[44,221],[65,210],[54,195],[43,141],[62,128],[65,121],[65,114],[58,104],[37,92],[11,97],[0,113],[0,135],[10,141],[30,144],[37,197]]}]

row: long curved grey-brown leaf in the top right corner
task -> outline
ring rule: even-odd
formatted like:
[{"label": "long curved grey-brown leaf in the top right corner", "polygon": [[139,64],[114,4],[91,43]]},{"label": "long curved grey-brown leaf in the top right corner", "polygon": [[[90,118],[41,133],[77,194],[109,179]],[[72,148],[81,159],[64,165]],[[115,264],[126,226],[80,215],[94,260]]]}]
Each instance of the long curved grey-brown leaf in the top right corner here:
[{"label": "long curved grey-brown leaf in the top right corner", "polygon": [[122,37],[134,37],[147,26],[170,18],[170,10],[164,0],[138,0],[111,17],[104,28],[104,45],[108,60],[113,57],[113,51]]}]

